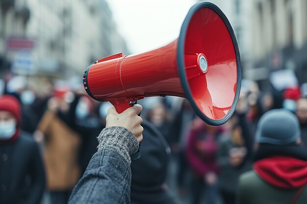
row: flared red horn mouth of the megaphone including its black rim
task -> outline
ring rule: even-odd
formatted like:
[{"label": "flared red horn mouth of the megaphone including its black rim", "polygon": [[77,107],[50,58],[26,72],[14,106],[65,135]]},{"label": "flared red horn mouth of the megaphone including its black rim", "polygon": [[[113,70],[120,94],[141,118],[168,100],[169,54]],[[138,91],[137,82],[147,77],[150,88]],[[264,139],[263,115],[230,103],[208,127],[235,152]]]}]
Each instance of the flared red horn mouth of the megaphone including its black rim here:
[{"label": "flared red horn mouth of the megaphone including its black rim", "polygon": [[180,30],[177,63],[195,112],[209,125],[227,122],[240,94],[240,53],[228,19],[213,3],[190,8]]}]

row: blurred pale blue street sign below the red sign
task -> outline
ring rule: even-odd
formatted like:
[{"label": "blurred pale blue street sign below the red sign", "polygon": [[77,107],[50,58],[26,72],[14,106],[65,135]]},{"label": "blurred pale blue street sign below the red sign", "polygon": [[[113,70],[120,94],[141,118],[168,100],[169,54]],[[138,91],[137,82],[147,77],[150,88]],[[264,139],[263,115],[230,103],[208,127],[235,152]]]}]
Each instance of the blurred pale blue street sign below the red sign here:
[{"label": "blurred pale blue street sign below the red sign", "polygon": [[29,50],[19,51],[12,62],[11,70],[14,73],[22,73],[22,74],[35,73],[36,70],[31,51]]}]

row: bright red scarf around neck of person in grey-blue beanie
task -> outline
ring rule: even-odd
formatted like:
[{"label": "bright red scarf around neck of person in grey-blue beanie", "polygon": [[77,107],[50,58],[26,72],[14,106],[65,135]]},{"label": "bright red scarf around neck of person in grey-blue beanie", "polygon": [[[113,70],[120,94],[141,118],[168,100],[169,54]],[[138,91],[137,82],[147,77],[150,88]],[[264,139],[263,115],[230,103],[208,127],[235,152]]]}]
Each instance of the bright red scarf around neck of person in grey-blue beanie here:
[{"label": "bright red scarf around neck of person in grey-blue beanie", "polygon": [[260,159],[254,170],[264,181],[284,189],[295,189],[307,184],[307,161],[286,156]]}]

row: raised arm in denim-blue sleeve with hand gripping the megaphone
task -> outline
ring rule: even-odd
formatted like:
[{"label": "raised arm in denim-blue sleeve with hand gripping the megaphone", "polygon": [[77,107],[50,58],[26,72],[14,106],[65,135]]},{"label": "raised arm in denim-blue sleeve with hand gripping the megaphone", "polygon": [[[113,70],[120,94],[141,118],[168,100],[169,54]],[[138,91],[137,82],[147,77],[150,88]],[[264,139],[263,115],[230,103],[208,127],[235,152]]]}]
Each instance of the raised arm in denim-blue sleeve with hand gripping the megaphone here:
[{"label": "raised arm in denim-blue sleeve with hand gripping the megaphone", "polygon": [[98,136],[98,152],[70,197],[69,204],[129,204],[130,155],[137,152],[142,140],[142,107],[134,105],[118,114],[110,109],[106,128]]}]

